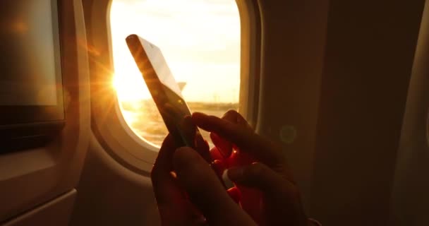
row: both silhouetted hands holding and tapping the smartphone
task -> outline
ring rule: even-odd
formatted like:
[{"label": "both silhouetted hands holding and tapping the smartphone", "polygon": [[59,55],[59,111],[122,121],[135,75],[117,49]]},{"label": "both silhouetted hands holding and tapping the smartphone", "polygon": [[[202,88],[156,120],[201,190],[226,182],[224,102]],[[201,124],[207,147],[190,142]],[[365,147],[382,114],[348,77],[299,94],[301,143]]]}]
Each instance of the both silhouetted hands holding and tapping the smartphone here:
[{"label": "both silhouetted hands holding and tapping the smartphone", "polygon": [[[310,225],[280,148],[234,111],[192,119],[211,132],[214,161],[210,167],[201,157],[209,150],[200,136],[197,151],[167,136],[151,174],[162,225]],[[236,185],[227,192],[219,180],[224,169]]]}]

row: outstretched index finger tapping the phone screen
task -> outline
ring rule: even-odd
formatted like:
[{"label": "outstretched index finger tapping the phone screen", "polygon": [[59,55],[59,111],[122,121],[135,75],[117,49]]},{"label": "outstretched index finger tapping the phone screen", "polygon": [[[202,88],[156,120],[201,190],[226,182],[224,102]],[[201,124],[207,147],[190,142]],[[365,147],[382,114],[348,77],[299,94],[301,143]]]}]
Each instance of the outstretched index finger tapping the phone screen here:
[{"label": "outstretched index finger tapping the phone screen", "polygon": [[226,141],[234,143],[241,151],[250,153],[260,162],[270,166],[285,162],[284,155],[279,148],[248,128],[199,112],[193,113],[192,119],[201,129],[217,133]]}]

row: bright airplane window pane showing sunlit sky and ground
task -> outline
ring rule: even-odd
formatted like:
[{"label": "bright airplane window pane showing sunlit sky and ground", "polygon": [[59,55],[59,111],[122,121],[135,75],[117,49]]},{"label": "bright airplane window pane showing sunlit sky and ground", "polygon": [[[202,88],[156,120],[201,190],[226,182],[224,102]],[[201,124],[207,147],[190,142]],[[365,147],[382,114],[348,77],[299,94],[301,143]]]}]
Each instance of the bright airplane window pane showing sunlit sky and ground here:
[{"label": "bright airplane window pane showing sunlit sky and ground", "polygon": [[167,128],[126,46],[131,34],[162,50],[191,112],[222,117],[238,109],[241,49],[235,0],[113,0],[110,21],[113,87],[123,118],[140,138],[159,146]]}]

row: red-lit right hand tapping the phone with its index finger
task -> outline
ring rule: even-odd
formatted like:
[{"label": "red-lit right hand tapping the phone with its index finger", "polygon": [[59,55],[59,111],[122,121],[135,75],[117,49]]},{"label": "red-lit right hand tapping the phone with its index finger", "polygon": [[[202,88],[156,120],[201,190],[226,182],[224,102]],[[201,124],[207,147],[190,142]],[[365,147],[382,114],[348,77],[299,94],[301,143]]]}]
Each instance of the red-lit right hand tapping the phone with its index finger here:
[{"label": "red-lit right hand tapping the phone with its index finger", "polygon": [[256,134],[235,111],[226,112],[222,119],[203,113],[192,118],[211,133],[214,169],[218,174],[228,169],[235,184],[229,194],[258,225],[311,225],[279,146]]}]

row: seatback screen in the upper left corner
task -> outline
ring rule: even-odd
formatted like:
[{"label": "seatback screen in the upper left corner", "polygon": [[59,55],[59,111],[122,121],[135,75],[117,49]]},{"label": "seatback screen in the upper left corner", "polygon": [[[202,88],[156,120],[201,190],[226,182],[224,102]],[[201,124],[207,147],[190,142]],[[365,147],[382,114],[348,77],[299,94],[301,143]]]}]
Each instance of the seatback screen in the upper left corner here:
[{"label": "seatback screen in the upper left corner", "polygon": [[52,0],[0,1],[0,105],[57,105],[58,15]]}]

